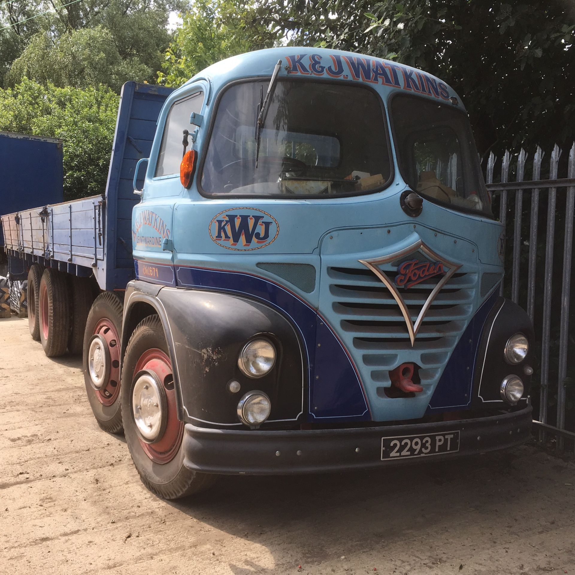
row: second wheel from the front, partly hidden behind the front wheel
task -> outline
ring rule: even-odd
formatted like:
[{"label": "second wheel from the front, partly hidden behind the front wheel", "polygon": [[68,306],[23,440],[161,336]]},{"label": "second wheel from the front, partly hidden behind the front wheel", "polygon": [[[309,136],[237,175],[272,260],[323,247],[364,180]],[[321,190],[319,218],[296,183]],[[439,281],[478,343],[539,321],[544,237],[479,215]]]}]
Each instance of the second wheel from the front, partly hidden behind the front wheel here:
[{"label": "second wheel from the front, partly hidden behind the front wheel", "polygon": [[86,320],[83,368],[86,393],[99,426],[122,431],[120,344],[124,306],[112,292],[95,298]]}]

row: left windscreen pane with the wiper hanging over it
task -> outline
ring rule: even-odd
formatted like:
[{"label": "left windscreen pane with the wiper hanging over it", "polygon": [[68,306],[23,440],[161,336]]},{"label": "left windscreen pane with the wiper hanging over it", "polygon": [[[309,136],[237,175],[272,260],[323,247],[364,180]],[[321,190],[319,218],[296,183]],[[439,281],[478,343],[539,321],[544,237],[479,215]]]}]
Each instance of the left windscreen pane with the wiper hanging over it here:
[{"label": "left windscreen pane with the wiper hanging over it", "polygon": [[260,133],[270,81],[241,82],[220,99],[204,161],[210,195],[342,196],[382,189],[391,175],[381,101],[360,86],[279,80]]}]

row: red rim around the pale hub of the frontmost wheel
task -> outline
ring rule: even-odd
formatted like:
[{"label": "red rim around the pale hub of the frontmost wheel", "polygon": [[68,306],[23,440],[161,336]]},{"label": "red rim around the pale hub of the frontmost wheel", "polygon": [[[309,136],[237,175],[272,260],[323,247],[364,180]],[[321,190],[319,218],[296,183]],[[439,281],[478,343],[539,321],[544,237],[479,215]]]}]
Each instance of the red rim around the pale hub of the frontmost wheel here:
[{"label": "red rim around the pale hub of the frontmost wheel", "polygon": [[[162,382],[166,391],[167,423],[162,437],[154,443],[146,443],[140,439],[140,445],[144,453],[155,463],[168,463],[174,459],[182,444],[183,421],[178,420],[178,408],[174,390],[174,375],[170,358],[158,348],[145,351],[134,368],[134,374],[141,370],[154,373]],[[133,409],[133,407],[132,407]],[[133,414],[132,414],[133,416]]]}]

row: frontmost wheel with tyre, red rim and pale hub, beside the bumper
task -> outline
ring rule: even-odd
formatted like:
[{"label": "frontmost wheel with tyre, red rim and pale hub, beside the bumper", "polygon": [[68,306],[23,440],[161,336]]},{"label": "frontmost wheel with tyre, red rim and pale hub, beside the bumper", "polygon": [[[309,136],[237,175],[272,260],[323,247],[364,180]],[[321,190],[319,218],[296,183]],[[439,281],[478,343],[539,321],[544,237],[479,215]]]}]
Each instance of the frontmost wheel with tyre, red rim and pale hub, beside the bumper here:
[{"label": "frontmost wheel with tyre, red rim and pale hub, beside the bumper", "polygon": [[208,489],[216,476],[183,465],[183,421],[178,420],[174,377],[158,316],[132,333],[122,367],[124,434],[143,484],[164,499]]}]

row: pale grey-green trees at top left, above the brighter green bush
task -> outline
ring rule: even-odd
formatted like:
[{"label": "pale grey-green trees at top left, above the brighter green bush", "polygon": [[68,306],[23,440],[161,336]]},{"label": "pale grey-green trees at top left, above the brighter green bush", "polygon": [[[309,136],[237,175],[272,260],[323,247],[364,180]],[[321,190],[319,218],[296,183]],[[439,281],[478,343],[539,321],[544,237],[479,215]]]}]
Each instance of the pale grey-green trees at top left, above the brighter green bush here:
[{"label": "pale grey-green trees at top left, above the brighter green bush", "polygon": [[[0,31],[3,85],[29,78],[56,86],[104,83],[118,91],[126,79],[152,82],[171,37],[170,10],[187,6],[185,0],[66,3],[11,0],[0,7],[0,28],[10,26]],[[18,24],[26,18],[32,19]]]}]

